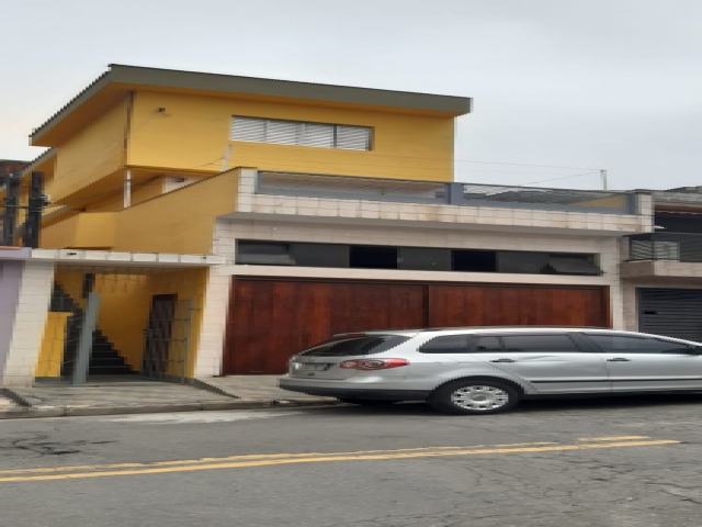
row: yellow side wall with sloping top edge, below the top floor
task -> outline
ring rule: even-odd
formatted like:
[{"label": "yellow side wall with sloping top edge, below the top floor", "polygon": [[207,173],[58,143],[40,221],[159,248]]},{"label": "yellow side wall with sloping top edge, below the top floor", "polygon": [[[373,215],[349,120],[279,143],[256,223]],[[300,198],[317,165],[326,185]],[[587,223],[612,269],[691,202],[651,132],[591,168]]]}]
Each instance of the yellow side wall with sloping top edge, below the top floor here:
[{"label": "yellow side wall with sloping top edge, below the top floor", "polygon": [[210,254],[214,218],[235,211],[237,192],[230,171],[125,209],[114,250]]}]

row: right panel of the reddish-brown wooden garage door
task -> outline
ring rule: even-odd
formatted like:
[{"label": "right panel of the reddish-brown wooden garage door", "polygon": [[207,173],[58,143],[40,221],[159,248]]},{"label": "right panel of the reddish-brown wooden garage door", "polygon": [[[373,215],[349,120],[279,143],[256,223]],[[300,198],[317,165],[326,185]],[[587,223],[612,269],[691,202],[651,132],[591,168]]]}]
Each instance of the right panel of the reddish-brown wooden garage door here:
[{"label": "right panel of the reddish-brown wooden garage door", "polygon": [[603,288],[429,285],[429,326],[609,326]]}]

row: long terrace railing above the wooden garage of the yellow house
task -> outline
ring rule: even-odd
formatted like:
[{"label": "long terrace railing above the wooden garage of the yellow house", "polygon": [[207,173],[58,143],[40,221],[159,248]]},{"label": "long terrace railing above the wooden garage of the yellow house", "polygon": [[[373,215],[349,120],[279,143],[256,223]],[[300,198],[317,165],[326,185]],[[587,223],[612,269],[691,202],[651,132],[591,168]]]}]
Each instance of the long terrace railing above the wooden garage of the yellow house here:
[{"label": "long terrace railing above the wooden garage of the yellow house", "polygon": [[256,193],[604,214],[637,213],[636,195],[632,192],[442,183],[294,172],[258,172]]}]

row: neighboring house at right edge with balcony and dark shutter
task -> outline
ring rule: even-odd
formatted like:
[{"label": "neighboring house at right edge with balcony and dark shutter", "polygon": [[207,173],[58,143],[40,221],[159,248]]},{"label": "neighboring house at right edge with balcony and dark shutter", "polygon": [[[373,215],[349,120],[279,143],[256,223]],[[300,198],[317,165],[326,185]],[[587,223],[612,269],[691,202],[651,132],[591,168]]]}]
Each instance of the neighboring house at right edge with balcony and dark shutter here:
[{"label": "neighboring house at right edge with balcony and dark shutter", "polygon": [[626,327],[702,341],[702,188],[652,193],[654,232],[625,244]]}]

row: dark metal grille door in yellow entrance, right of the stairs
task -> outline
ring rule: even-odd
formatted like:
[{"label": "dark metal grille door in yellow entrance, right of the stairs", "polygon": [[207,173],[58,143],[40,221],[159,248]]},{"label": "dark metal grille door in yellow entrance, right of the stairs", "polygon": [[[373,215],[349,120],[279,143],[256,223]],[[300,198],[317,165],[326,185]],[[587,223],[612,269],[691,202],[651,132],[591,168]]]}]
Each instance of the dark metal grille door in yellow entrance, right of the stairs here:
[{"label": "dark metal grille door in yellow entrance, right of the stairs", "polygon": [[151,298],[151,310],[146,328],[144,358],[141,361],[144,373],[166,373],[177,298],[176,294],[155,294]]}]

